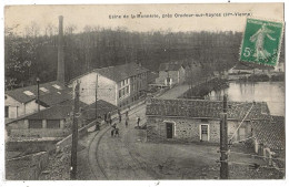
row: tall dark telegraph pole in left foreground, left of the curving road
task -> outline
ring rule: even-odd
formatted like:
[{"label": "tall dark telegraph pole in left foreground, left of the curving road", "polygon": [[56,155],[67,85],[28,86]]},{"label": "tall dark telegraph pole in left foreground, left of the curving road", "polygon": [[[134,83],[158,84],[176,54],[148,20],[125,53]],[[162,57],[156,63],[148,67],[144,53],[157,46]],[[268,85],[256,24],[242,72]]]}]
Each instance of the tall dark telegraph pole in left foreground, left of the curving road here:
[{"label": "tall dark telegraph pole in left foreground, left of the curving road", "polygon": [[71,147],[71,167],[70,179],[77,179],[77,148],[78,148],[78,117],[79,117],[79,82],[74,89],[74,106],[72,122],[72,147]]}]

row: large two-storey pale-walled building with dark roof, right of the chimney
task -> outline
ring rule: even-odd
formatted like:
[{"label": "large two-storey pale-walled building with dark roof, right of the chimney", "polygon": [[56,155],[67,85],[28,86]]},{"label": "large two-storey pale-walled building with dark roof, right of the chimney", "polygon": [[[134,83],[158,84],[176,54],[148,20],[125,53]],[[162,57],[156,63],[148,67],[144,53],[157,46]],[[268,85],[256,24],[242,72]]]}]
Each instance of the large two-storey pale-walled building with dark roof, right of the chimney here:
[{"label": "large two-storey pale-walled building with dark roof, right of the chimney", "polygon": [[80,84],[80,101],[86,104],[103,100],[118,107],[138,101],[148,90],[148,70],[136,63],[94,69],[72,81],[70,86]]}]

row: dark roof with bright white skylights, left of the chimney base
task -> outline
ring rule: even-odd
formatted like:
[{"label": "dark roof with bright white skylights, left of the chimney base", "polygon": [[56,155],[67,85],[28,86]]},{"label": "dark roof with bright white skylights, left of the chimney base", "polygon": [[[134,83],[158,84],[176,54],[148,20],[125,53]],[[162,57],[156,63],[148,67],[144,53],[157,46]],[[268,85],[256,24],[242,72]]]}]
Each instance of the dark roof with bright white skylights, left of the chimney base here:
[{"label": "dark roof with bright white skylights, left of the chimney base", "polygon": [[[71,97],[71,89],[66,87],[64,84],[58,81],[40,84],[39,87],[39,98],[41,102],[48,105],[53,105]],[[6,95],[11,96],[20,103],[28,103],[36,100],[37,85],[7,91]]]}]

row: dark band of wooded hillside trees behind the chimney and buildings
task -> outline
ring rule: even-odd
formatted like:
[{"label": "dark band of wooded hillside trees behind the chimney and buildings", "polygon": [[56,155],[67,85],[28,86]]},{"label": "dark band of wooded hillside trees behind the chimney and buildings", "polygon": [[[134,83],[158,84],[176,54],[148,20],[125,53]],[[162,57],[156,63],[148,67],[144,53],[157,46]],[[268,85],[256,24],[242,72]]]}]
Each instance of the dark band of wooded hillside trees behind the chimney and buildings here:
[{"label": "dark band of wooded hillside trees behind the chimney and buildings", "polygon": [[[123,63],[141,63],[156,71],[160,63],[197,61],[207,73],[222,71],[238,62],[240,32],[131,32],[123,28],[86,27],[74,33],[76,27],[64,29],[66,80],[69,81],[96,67]],[[4,70],[7,89],[14,89],[57,77],[56,28],[28,28],[26,35],[6,29]],[[206,74],[199,73],[199,76]]]}]

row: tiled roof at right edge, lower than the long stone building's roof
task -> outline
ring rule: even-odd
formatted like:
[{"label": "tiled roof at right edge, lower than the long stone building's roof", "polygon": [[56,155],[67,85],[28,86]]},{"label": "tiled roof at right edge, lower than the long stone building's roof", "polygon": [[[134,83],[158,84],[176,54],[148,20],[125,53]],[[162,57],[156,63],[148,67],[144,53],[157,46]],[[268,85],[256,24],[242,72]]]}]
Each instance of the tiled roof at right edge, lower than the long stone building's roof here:
[{"label": "tiled roof at right edge, lower than the long stone building's roof", "polygon": [[285,149],[285,117],[267,115],[252,120],[255,137],[270,149]]}]

